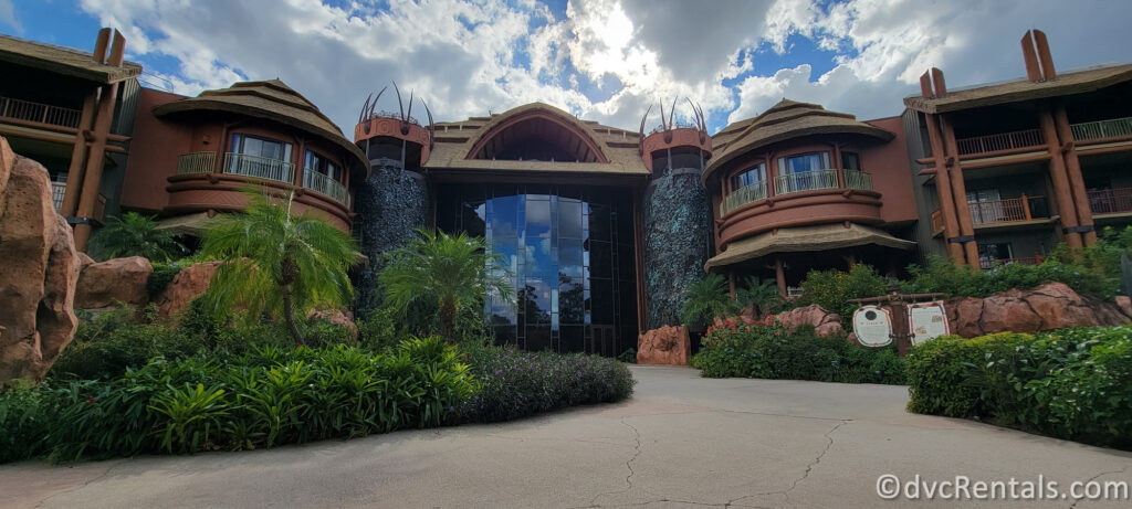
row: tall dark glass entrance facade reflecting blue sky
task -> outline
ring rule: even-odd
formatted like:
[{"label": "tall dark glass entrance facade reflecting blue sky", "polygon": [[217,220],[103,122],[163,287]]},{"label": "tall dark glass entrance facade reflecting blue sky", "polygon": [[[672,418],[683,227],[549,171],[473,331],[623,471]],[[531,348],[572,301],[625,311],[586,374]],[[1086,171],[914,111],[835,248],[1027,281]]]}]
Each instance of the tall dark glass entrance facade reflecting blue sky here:
[{"label": "tall dark glass entrance facade reflecting blue sky", "polygon": [[440,184],[437,227],[488,240],[515,302],[487,302],[499,344],[618,355],[637,342],[632,193],[624,188]]}]

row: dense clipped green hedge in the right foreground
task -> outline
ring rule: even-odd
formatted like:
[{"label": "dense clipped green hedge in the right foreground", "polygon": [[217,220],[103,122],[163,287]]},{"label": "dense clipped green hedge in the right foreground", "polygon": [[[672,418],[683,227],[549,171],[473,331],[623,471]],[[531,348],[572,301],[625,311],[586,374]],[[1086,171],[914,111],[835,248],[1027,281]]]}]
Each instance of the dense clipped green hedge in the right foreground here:
[{"label": "dense clipped green hedge in the right foreground", "polygon": [[936,338],[908,373],[912,412],[1132,448],[1132,328]]}]

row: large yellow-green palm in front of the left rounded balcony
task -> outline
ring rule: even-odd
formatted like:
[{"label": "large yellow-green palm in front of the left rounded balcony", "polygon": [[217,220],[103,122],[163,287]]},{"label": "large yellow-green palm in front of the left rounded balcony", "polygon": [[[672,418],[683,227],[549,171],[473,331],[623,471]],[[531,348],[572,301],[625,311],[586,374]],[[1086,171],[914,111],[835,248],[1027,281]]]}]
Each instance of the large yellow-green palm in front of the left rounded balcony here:
[{"label": "large yellow-green palm in front of the left rounded balcony", "polygon": [[303,343],[294,311],[344,307],[353,300],[346,275],[358,251],[354,240],[307,213],[291,214],[292,193],[283,202],[246,191],[243,213],[218,217],[205,233],[205,257],[224,260],[205,293],[217,316],[245,305],[249,321],[267,312],[286,319],[295,343]]}]

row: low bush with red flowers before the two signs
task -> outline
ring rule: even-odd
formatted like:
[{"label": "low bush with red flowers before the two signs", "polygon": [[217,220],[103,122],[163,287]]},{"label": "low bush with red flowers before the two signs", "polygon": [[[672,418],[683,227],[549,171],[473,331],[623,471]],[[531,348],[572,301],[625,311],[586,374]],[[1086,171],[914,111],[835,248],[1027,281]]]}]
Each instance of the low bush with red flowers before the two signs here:
[{"label": "low bush with red flowers before the two signs", "polygon": [[709,378],[904,383],[903,361],[894,347],[863,347],[844,337],[820,337],[813,327],[787,330],[773,321],[728,320],[712,327],[692,365]]}]

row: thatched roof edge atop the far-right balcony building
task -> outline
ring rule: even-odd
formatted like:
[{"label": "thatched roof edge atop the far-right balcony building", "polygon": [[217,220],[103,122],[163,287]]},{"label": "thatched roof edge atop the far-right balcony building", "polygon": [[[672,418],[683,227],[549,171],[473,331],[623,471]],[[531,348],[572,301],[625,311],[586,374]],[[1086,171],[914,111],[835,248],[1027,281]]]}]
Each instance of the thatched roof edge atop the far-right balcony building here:
[{"label": "thatched roof edge atop the far-right balcony building", "polygon": [[1045,81],[1018,80],[950,90],[944,97],[904,97],[904,105],[924,113],[945,113],[995,104],[1081,94],[1132,80],[1132,63],[1057,75]]}]

